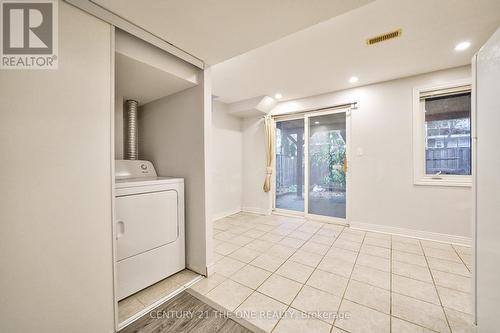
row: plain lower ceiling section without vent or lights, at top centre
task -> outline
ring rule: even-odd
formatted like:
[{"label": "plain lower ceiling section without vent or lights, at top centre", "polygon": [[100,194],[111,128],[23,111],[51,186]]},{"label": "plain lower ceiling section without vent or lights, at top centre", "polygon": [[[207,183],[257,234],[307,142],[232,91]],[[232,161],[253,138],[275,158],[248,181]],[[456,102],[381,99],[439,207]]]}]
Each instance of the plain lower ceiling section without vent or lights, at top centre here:
[{"label": "plain lower ceiling section without vent or lights, at top centre", "polygon": [[216,64],[374,0],[93,0]]}]

